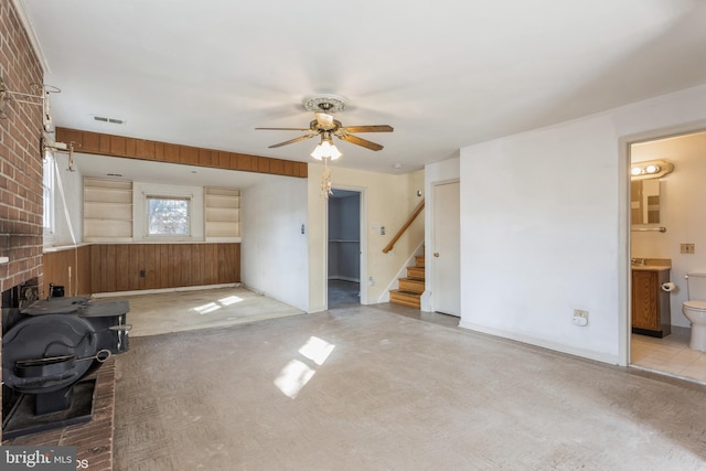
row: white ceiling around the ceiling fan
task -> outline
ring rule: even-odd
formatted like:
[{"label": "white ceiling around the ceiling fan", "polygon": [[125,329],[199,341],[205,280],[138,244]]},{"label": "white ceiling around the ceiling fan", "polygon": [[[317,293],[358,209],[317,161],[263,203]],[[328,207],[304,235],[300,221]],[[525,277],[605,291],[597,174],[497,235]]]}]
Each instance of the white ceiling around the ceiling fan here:
[{"label": "white ceiling around the ceiling fan", "polygon": [[56,126],[307,161],[315,139],[254,128],[338,94],[344,126],[395,131],[334,165],[378,172],[706,83],[702,0],[18,1]]}]

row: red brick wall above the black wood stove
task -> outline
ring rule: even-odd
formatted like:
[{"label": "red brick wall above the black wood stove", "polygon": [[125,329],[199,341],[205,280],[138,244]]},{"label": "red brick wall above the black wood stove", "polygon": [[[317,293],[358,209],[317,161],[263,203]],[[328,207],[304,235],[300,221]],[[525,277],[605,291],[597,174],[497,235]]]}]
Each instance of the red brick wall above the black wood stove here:
[{"label": "red brick wall above the black wood stove", "polygon": [[[0,77],[10,92],[36,94],[40,62],[13,3],[0,0]],[[39,90],[41,94],[41,89]],[[31,278],[42,286],[42,108],[10,101],[0,116],[0,291]]]}]

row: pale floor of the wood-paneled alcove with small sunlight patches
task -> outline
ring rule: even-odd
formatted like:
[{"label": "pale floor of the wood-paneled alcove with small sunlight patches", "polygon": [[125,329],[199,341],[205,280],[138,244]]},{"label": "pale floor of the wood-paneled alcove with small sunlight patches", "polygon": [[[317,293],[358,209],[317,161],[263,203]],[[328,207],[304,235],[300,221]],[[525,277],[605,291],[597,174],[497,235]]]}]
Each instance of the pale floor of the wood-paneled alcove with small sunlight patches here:
[{"label": "pale floor of the wood-paneled alcove with small sunlight patches", "polygon": [[110,299],[129,301],[130,312],[127,322],[132,324],[131,338],[235,325],[304,313],[244,288],[99,298],[97,301]]}]

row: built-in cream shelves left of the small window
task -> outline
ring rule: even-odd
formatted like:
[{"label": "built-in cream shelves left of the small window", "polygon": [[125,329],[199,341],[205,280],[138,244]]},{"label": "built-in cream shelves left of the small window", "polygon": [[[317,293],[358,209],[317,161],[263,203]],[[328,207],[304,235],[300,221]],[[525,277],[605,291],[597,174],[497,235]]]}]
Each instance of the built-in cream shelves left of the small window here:
[{"label": "built-in cream shelves left of the small window", "polygon": [[84,240],[132,238],[132,182],[84,178]]}]

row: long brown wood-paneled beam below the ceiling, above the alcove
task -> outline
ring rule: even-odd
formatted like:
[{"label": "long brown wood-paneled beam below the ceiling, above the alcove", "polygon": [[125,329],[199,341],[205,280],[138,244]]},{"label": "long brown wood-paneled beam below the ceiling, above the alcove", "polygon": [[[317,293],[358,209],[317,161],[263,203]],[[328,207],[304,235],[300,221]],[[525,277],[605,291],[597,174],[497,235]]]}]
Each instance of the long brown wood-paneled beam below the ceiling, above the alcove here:
[{"label": "long brown wood-paneled beam below the ceiling, above the alcove", "polygon": [[244,172],[307,178],[307,162],[225,152],[169,142],[56,128],[58,142],[74,142],[76,152],[128,159],[153,160],[186,165],[213,167]]}]

